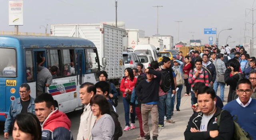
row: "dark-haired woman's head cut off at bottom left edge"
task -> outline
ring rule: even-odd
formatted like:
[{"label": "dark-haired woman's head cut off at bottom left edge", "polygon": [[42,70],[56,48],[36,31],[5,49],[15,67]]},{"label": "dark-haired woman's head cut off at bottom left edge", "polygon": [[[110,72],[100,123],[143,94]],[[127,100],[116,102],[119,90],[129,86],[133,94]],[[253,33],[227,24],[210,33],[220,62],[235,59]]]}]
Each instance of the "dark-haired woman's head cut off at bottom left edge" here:
[{"label": "dark-haired woman's head cut off at bottom left edge", "polygon": [[14,140],[41,140],[42,128],[36,115],[18,114],[13,121],[12,137]]}]

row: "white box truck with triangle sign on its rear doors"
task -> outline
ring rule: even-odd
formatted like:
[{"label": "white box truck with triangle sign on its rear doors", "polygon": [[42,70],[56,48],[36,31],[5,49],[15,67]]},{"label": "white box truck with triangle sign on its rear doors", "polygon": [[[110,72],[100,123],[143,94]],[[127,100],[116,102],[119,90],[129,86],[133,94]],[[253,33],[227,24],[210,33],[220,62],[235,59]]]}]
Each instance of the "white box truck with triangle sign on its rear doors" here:
[{"label": "white box truck with triangle sign on its rear doors", "polygon": [[139,38],[145,37],[145,31],[139,29],[126,29],[127,33],[127,47],[134,49],[138,45]]}]

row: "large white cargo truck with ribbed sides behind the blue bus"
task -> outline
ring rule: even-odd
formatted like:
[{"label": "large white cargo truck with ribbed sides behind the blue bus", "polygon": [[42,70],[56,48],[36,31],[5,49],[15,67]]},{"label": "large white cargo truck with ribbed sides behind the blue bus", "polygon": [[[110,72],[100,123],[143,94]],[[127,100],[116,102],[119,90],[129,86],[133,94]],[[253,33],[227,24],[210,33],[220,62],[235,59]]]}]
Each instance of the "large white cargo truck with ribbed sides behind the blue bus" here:
[{"label": "large white cargo truck with ribbed sides behind the blue bus", "polygon": [[123,37],[126,36],[125,29],[114,26],[96,24],[53,24],[51,25],[52,36],[80,37],[88,39],[97,47],[100,58],[100,65],[103,58],[106,58],[108,79],[118,84],[123,76],[122,52]]}]

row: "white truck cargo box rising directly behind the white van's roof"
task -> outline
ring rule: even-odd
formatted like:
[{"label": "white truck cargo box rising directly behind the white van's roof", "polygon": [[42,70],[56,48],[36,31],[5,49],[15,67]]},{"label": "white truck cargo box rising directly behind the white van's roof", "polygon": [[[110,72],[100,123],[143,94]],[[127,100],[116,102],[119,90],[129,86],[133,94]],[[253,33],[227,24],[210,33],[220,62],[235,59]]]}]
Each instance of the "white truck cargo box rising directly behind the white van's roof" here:
[{"label": "white truck cargo box rising directly behind the white van's roof", "polygon": [[163,51],[163,40],[158,38],[139,38],[138,45],[150,44],[159,48],[159,51]]}]

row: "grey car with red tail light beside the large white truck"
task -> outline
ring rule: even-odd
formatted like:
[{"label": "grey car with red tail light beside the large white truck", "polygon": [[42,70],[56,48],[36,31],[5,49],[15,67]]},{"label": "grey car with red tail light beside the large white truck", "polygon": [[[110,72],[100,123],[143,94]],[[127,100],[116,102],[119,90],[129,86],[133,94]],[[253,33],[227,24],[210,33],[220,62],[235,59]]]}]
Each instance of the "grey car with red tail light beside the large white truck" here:
[{"label": "grey car with red tail light beside the large white truck", "polygon": [[136,68],[140,58],[134,52],[123,52],[124,68]]}]

